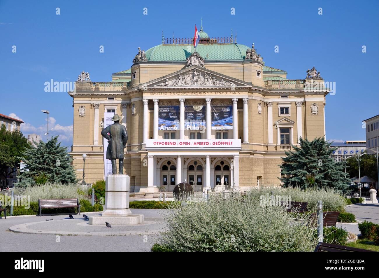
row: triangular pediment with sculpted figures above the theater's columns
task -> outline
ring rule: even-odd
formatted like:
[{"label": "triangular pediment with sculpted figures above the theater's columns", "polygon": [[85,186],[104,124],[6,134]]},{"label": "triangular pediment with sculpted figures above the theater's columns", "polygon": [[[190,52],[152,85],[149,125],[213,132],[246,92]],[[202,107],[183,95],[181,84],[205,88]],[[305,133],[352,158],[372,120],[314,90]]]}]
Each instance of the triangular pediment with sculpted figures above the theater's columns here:
[{"label": "triangular pediment with sculpted figures above the theater's columns", "polygon": [[251,84],[199,66],[191,66],[172,74],[151,80],[142,88],[182,88],[182,87],[251,87]]}]

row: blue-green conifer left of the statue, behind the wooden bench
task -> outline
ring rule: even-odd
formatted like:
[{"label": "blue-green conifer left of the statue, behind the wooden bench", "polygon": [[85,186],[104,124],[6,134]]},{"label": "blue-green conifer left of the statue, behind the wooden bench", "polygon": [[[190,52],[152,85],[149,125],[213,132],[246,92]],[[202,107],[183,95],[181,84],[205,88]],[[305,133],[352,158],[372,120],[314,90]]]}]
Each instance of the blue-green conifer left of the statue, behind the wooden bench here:
[{"label": "blue-green conifer left of the statue, behind the wooden bench", "polygon": [[47,143],[40,141],[36,148],[25,151],[20,157],[25,162],[25,171],[20,175],[20,186],[45,182],[77,182],[74,167],[66,152],[66,147],[58,143],[58,136]]}]

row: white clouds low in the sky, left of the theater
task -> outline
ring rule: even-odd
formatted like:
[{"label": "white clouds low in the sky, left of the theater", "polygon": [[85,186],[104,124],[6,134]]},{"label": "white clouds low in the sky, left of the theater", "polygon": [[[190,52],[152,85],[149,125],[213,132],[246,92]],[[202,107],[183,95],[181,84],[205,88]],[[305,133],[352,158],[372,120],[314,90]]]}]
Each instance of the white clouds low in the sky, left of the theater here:
[{"label": "white clouds low in the sky, left of the theater", "polygon": [[[19,118],[15,113],[9,114],[9,117],[19,119],[23,121],[21,118]],[[45,119],[47,122],[47,119]],[[25,137],[28,136],[28,134],[35,133],[39,136],[41,136],[42,140],[46,140],[46,129],[47,124],[43,124],[41,126],[33,126],[30,123],[24,123],[21,124],[21,132],[25,135]],[[64,145],[70,145],[72,144],[72,133],[74,130],[74,125],[70,126],[62,126],[60,124],[56,124],[56,119],[54,117],[49,117],[49,138],[52,136],[58,136],[58,140],[62,141]]]}]

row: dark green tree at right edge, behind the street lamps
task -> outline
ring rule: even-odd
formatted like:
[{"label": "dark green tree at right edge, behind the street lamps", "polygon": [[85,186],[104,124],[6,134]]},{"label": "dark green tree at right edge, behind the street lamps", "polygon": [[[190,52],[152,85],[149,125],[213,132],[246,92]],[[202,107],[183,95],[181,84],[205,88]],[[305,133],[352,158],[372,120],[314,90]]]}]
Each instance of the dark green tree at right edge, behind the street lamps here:
[{"label": "dark green tree at right edge, behind the street lamps", "polygon": [[[361,177],[368,176],[375,181],[378,180],[377,162],[374,154],[362,155],[359,159],[359,166]],[[359,176],[357,155],[346,159],[346,171],[351,178]]]}]

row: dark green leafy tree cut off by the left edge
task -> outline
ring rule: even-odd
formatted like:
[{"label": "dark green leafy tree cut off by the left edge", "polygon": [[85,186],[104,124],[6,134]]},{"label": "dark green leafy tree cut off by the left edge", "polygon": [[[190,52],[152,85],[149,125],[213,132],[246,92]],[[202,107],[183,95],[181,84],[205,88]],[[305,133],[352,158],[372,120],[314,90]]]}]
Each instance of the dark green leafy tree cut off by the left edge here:
[{"label": "dark green leafy tree cut off by the left edge", "polygon": [[[19,130],[0,128],[0,174],[7,184],[7,177],[20,168],[19,156],[31,145]],[[1,185],[0,185],[1,187]]]}]

